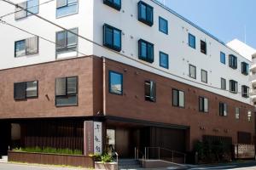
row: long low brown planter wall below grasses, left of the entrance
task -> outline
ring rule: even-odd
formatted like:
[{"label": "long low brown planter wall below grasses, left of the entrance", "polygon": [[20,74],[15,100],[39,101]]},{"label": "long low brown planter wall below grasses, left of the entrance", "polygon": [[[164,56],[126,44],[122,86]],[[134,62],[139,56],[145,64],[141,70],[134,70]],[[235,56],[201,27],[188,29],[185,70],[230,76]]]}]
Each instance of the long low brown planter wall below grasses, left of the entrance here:
[{"label": "long low brown planter wall below grasses, left of the entrance", "polygon": [[94,167],[94,161],[90,156],[73,156],[62,154],[8,151],[8,161],[47,165],[67,165],[73,167]]}]

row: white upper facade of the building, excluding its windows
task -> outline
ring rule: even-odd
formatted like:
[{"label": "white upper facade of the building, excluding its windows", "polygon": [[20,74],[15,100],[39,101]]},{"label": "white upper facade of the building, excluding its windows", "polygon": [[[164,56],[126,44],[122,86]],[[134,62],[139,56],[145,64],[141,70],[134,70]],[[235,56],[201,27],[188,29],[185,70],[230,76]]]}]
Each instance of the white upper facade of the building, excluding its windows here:
[{"label": "white upper facade of the building, excluding its windows", "polygon": [[[67,2],[73,1],[75,0],[68,0]],[[13,0],[13,2],[24,1]],[[39,0],[39,3],[45,2],[48,0]],[[2,44],[1,47],[4,48],[0,49],[2,54],[0,69],[94,54],[251,104],[249,98],[241,96],[241,86],[251,87],[249,77],[241,74],[241,62],[247,63],[250,67],[250,60],[228,48],[223,42],[219,42],[218,39],[193,23],[152,0],[144,0],[143,2],[153,7],[153,26],[144,24],[138,20],[138,2],[140,1],[122,0],[121,8],[117,10],[104,4],[103,0],[78,0],[76,12],[63,17],[56,17],[56,5],[60,5],[56,4],[56,1],[42,4],[39,6],[38,15],[67,29],[78,28],[79,35],[100,45],[103,45],[104,24],[121,30],[120,52],[110,51],[108,48],[103,48],[79,37],[78,54],[69,53],[58,56],[55,52],[54,43],[39,38],[38,54],[15,57],[15,42],[32,37],[32,35],[1,24],[0,37],[2,38],[0,43]],[[0,1],[0,8],[0,16],[15,11],[14,6],[2,1]],[[159,31],[159,17],[167,20],[168,34]],[[52,42],[56,42],[56,32],[61,31],[61,28],[50,25],[44,20],[39,20],[36,16],[15,20],[15,15],[11,14],[4,17],[3,20]],[[195,36],[195,48],[189,47],[189,34]],[[153,63],[138,59],[138,40],[140,39],[154,44]],[[207,43],[207,54],[201,53],[201,40]],[[160,52],[168,54],[168,69],[160,66]],[[225,54],[225,64],[220,62],[220,52]],[[237,69],[232,69],[229,66],[230,54],[237,58]],[[196,67],[196,79],[189,77],[189,65]],[[201,70],[207,71],[207,82],[201,82]],[[226,90],[220,89],[221,78],[226,80]],[[237,82],[237,94],[230,93],[230,80]]]}]

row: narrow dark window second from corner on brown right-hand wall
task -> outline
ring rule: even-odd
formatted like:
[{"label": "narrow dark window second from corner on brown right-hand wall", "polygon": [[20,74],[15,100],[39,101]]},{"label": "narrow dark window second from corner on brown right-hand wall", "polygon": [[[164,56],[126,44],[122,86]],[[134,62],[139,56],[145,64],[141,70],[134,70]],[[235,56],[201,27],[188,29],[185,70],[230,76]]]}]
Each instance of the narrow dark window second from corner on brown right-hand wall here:
[{"label": "narrow dark window second from corner on brown right-hand wall", "polygon": [[145,100],[156,101],[156,84],[153,81],[145,81]]}]

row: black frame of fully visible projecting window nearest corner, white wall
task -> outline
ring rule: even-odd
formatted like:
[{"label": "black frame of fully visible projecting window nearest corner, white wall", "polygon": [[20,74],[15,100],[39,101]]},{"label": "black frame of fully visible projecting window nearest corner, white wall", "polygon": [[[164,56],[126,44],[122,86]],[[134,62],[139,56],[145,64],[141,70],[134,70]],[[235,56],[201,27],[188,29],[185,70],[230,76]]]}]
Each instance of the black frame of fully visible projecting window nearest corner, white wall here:
[{"label": "black frame of fully visible projecting window nearest corner, white wall", "polygon": [[[106,41],[106,28],[108,28],[112,31],[112,42],[111,42],[111,44],[108,44],[107,41]],[[113,31],[119,31],[119,39],[120,39],[119,47],[114,46],[114,33],[113,33]],[[103,45],[107,48],[111,48],[115,51],[120,52],[121,49],[122,49],[122,31],[119,30],[116,27],[109,26],[108,24],[104,24],[103,25]]]}]

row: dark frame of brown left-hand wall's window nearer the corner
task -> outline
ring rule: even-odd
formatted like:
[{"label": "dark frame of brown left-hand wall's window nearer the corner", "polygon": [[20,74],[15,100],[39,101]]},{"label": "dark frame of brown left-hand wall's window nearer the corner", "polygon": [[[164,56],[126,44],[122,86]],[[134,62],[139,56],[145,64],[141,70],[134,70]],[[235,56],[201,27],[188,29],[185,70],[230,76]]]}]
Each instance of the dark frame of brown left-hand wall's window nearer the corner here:
[{"label": "dark frame of brown left-hand wall's window nearer the corner", "polygon": [[[76,93],[74,94],[68,94],[67,93],[67,78],[76,78],[77,82],[76,82]],[[56,80],[57,78],[66,78],[66,95],[56,95]],[[57,105],[57,98],[68,98],[70,96],[76,96],[77,98],[77,104],[71,104],[71,105]],[[73,76],[73,77],[56,77],[55,78],[55,106],[56,107],[65,107],[65,106],[78,106],[79,105],[79,77],[78,76]]]}]

